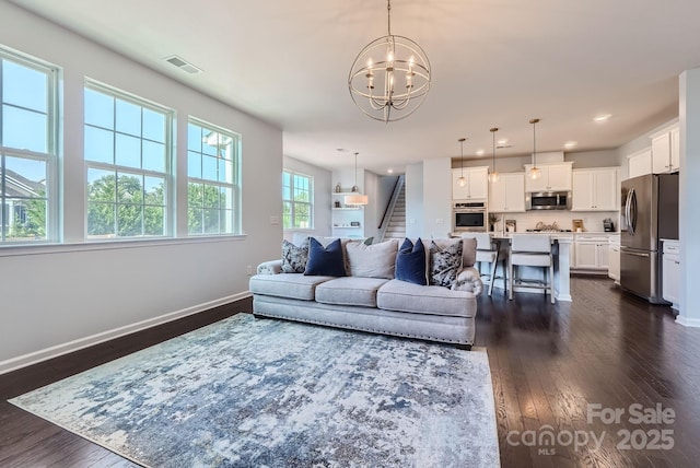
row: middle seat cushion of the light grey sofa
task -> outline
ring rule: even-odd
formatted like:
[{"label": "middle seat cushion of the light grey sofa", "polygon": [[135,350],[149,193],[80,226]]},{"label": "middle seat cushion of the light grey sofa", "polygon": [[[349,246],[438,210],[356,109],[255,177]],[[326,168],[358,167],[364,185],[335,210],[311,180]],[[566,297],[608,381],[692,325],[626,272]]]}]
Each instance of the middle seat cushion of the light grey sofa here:
[{"label": "middle seat cushion of the light grey sofa", "polygon": [[376,307],[376,292],[387,281],[382,278],[336,278],[318,284],[316,288],[316,302]]}]

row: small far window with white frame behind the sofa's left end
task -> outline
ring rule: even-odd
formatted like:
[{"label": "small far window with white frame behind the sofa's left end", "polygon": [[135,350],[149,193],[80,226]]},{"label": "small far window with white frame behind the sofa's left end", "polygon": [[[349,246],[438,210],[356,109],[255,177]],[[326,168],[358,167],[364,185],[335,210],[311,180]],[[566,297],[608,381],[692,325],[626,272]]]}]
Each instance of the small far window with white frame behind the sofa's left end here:
[{"label": "small far window with white frame behind the sofa's left end", "polygon": [[314,178],[282,172],[282,226],[285,230],[314,227]]}]

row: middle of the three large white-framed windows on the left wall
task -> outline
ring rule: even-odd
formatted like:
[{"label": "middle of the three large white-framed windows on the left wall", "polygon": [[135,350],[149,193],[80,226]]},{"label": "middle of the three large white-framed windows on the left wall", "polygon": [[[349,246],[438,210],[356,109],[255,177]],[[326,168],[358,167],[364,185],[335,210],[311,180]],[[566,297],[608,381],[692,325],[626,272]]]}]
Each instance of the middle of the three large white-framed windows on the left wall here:
[{"label": "middle of the three large white-framed windows on the left wall", "polygon": [[173,235],[174,110],[85,80],[86,238]]}]

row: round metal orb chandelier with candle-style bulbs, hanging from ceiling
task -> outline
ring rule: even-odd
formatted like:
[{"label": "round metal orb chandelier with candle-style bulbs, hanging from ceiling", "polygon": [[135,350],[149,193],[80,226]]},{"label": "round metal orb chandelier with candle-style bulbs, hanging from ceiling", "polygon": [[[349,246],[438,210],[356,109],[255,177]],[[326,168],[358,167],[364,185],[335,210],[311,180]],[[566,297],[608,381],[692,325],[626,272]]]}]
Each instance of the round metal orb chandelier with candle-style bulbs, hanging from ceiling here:
[{"label": "round metal orb chandelier with candle-style bulbs, hanging from ceiling", "polygon": [[358,54],[348,77],[350,96],[375,120],[401,120],[416,112],[430,90],[430,61],[413,40],[392,34],[392,1],[387,0],[388,34]]}]

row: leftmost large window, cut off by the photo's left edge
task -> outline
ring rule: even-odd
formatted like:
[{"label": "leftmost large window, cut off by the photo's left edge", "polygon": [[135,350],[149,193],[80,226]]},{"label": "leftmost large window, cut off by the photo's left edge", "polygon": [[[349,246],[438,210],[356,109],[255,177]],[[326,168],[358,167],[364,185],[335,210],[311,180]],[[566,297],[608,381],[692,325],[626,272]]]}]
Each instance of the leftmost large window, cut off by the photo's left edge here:
[{"label": "leftmost large window, cut off by the photo's left edge", "polygon": [[58,75],[0,47],[0,245],[59,238]]}]

